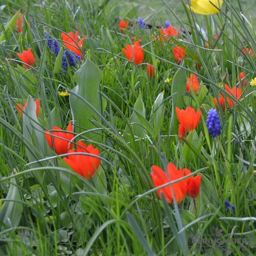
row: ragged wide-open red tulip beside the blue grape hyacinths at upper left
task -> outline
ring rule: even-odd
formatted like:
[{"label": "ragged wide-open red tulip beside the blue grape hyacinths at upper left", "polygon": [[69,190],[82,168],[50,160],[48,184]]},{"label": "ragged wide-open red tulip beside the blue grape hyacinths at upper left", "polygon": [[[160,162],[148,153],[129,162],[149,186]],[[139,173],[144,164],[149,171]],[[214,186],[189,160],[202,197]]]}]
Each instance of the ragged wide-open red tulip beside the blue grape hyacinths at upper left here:
[{"label": "ragged wide-open red tulip beside the blue grape hyacinths at upper left", "polygon": [[61,33],[61,39],[63,41],[63,44],[70,51],[74,52],[82,58],[82,52],[80,51],[79,47],[82,47],[84,39],[82,38],[78,41],[78,31],[76,31],[75,35],[73,34],[73,32],[69,32],[68,35],[66,35],[65,33]]}]

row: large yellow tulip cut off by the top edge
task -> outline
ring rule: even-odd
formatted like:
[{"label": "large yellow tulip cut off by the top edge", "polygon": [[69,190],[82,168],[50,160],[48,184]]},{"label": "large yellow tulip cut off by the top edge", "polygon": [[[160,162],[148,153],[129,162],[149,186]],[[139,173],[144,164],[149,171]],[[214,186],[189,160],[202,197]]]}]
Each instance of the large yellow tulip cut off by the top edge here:
[{"label": "large yellow tulip cut off by the top edge", "polygon": [[219,10],[215,8],[211,2],[216,5],[219,9],[222,6],[222,0],[191,0],[191,6],[187,5],[188,8],[191,9],[192,12],[202,14],[202,15],[210,15],[214,13],[218,13]]}]

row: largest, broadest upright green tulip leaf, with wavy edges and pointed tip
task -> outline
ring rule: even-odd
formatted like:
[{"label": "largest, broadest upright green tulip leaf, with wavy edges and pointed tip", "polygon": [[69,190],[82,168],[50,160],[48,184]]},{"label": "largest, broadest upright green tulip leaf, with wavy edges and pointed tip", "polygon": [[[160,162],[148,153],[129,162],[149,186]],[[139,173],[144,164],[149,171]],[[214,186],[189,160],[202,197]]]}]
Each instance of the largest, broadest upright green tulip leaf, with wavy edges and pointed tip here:
[{"label": "largest, broadest upright green tulip leaf, with wavy edges and pointed tip", "polygon": [[[69,101],[73,120],[75,120],[75,132],[80,133],[85,130],[97,128],[91,120],[101,123],[101,97],[99,94],[100,81],[102,79],[102,72],[100,69],[87,58],[85,63],[74,74],[74,79],[77,85],[74,87],[73,94],[70,94]],[[91,108],[88,102],[94,109]],[[99,133],[99,131],[97,131]],[[94,141],[99,140],[99,135],[94,132],[86,133],[86,136],[93,138]]]}]

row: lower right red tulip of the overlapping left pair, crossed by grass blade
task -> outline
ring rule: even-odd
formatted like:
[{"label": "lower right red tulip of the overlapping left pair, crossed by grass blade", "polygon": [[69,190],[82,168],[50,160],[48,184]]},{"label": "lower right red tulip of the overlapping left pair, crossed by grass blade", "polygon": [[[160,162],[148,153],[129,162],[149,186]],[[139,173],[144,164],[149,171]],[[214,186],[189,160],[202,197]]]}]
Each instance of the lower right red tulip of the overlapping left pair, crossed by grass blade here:
[{"label": "lower right red tulip of the overlapping left pair, crossed by grass blade", "polygon": [[[99,156],[98,148],[94,148],[91,144],[86,146],[82,141],[77,142],[76,149],[69,150],[68,153],[88,153]],[[69,155],[68,157],[64,157],[63,160],[74,172],[80,174],[87,180],[95,174],[100,165],[99,158],[79,154]]]}]

